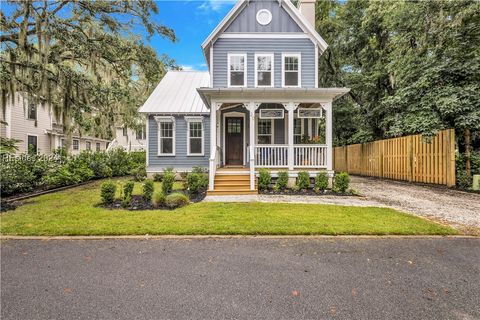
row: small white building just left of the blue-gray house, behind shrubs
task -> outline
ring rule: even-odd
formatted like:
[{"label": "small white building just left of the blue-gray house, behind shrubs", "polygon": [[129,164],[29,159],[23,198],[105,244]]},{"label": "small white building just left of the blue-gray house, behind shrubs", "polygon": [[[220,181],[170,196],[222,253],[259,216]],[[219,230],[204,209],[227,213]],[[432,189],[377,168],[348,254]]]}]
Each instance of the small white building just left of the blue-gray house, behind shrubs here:
[{"label": "small white building just left of the blue-gray house, behind shrubs", "polygon": [[115,126],[115,139],[109,144],[109,149],[121,147],[127,152],[145,151],[147,144],[147,131],[145,125],[135,130],[126,125]]}]

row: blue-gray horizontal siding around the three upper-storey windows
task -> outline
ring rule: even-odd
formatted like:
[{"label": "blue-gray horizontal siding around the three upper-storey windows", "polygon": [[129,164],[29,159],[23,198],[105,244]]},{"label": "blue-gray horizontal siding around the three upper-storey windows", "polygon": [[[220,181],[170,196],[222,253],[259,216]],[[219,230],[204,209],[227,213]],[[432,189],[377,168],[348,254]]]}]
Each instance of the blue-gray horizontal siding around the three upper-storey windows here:
[{"label": "blue-gray horizontal siding around the three upper-storey windows", "polygon": [[228,53],[247,53],[247,85],[255,87],[255,53],[274,53],[274,85],[282,86],[282,53],[301,53],[301,85],[315,87],[315,45],[310,39],[218,39],[213,45],[213,86],[227,87]]}]

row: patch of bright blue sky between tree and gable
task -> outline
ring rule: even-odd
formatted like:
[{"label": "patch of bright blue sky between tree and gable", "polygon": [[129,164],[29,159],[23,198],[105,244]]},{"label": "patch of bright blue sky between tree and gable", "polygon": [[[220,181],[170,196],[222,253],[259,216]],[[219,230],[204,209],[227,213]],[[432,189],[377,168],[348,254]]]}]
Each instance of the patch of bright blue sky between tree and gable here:
[{"label": "patch of bright blue sky between tree and gable", "polygon": [[158,55],[166,53],[185,70],[206,70],[200,45],[235,4],[235,0],[157,1],[156,22],[175,31],[178,41],[172,43],[155,36],[149,44]]}]

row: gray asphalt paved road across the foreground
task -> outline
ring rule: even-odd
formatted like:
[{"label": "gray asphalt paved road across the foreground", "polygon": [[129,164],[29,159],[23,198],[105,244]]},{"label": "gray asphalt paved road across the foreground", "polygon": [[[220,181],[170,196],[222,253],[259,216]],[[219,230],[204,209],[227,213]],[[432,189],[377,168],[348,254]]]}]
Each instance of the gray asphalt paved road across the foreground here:
[{"label": "gray asphalt paved road across the foreground", "polygon": [[480,239],[8,240],[8,319],[480,319]]}]

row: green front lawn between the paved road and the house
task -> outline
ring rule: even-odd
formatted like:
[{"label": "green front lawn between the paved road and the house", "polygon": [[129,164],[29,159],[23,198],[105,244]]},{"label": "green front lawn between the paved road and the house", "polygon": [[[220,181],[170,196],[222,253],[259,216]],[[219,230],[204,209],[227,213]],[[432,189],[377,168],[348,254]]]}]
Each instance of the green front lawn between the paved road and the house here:
[{"label": "green front lawn between the paved road and the house", "polygon": [[[166,211],[95,207],[99,185],[39,196],[0,217],[4,235],[433,235],[440,224],[386,208],[312,204],[197,203]],[[156,190],[159,188],[156,184]],[[180,185],[176,185],[180,188]],[[134,193],[140,193],[136,184]]]}]

